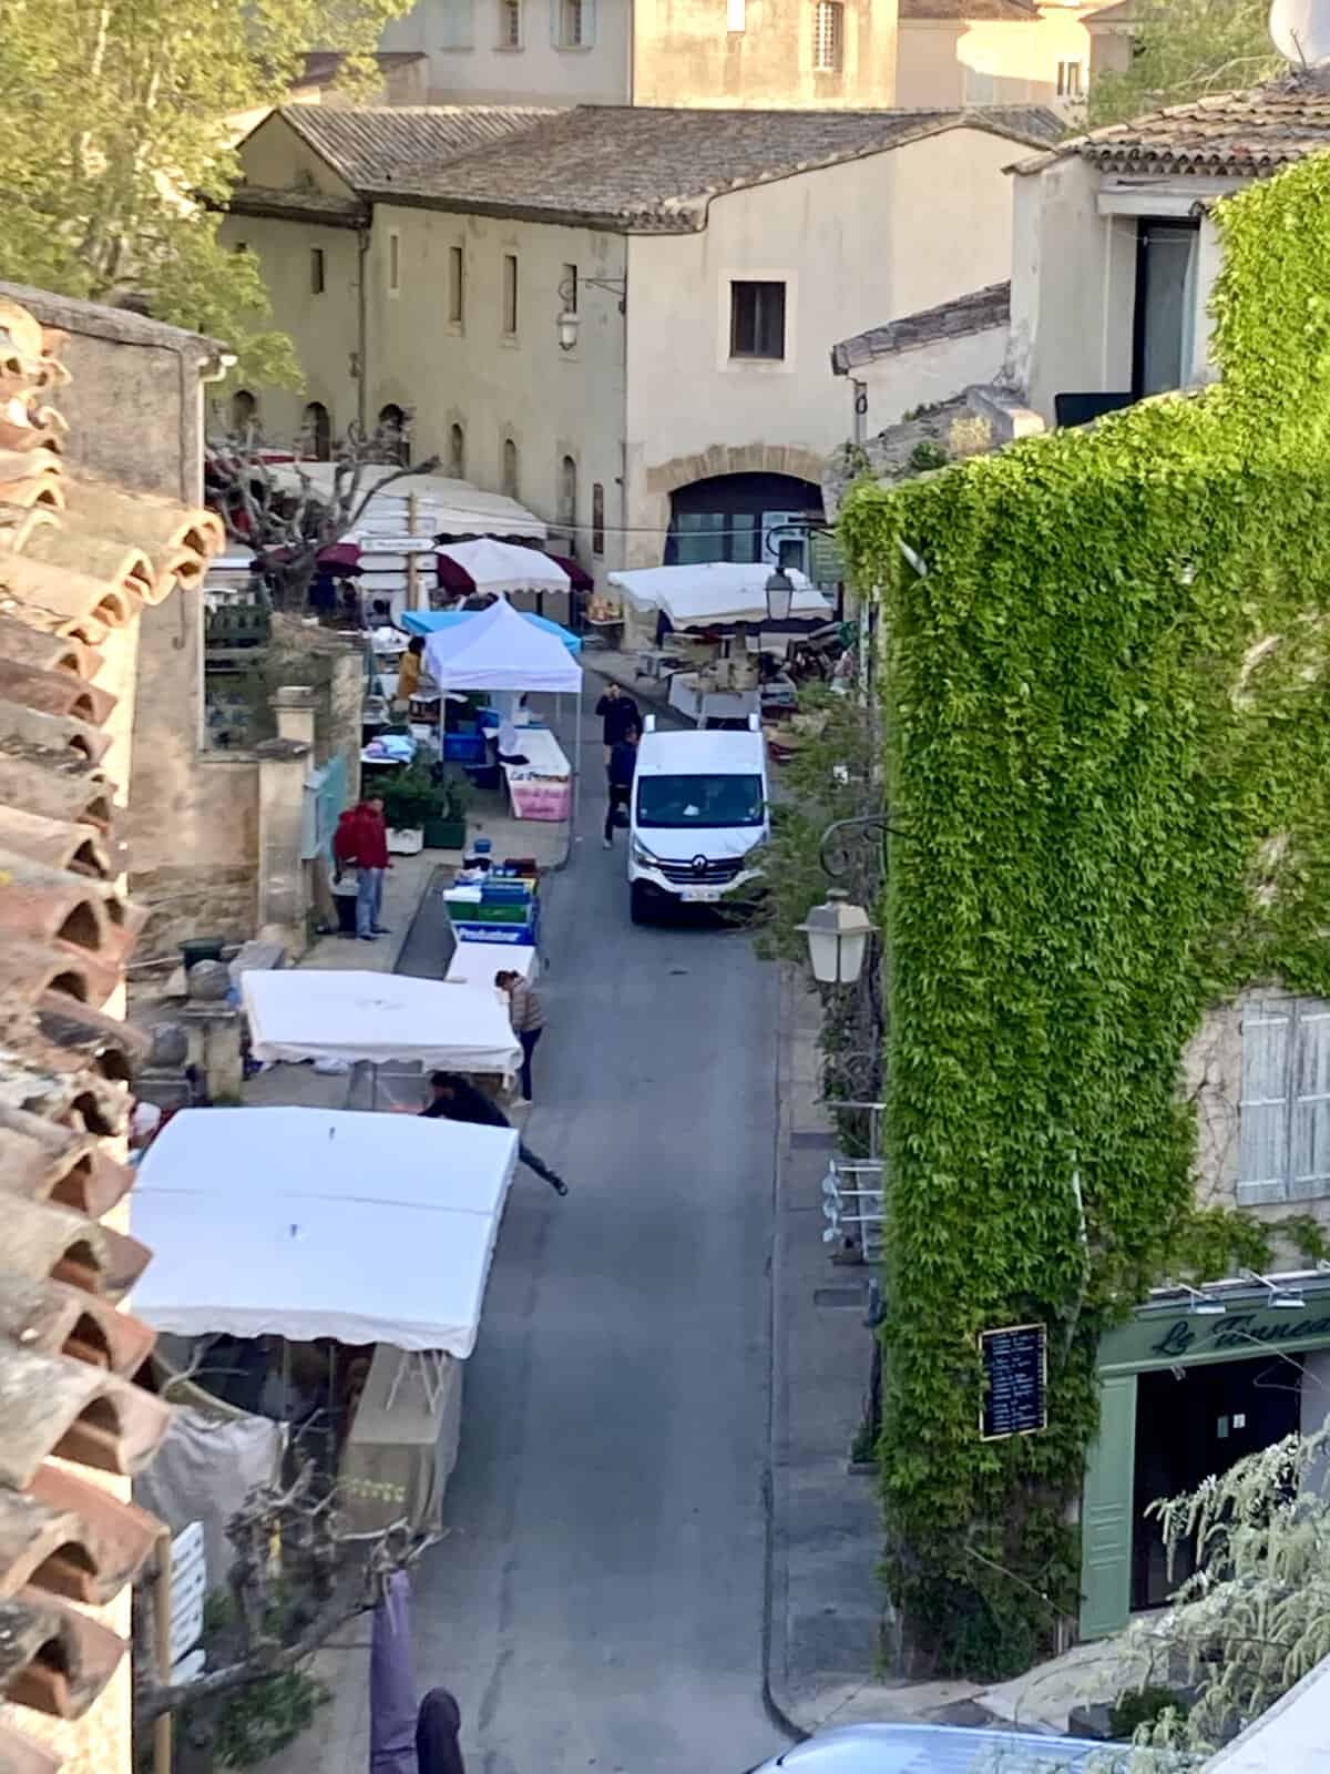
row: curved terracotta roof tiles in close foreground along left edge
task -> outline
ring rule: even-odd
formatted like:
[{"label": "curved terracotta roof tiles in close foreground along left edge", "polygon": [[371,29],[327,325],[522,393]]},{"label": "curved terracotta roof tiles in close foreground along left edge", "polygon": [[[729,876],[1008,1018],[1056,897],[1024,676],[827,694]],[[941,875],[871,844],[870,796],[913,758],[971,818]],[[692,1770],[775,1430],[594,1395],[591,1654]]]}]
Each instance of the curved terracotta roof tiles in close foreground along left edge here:
[{"label": "curved terracotta roof tiles in close foreground along left edge", "polygon": [[[158,1533],[78,1467],[140,1471],[168,1417],[135,1384],[153,1332],[117,1309],[147,1251],[101,1222],[131,1181],[108,1137],[140,1048],[103,1006],[140,917],[92,679],[113,630],[202,582],[222,530],[64,472],[62,342],[0,298],[0,1696],[78,1717],[124,1644],[69,1604],[108,1602]],[[0,1767],[53,1758],[4,1728]]]}]

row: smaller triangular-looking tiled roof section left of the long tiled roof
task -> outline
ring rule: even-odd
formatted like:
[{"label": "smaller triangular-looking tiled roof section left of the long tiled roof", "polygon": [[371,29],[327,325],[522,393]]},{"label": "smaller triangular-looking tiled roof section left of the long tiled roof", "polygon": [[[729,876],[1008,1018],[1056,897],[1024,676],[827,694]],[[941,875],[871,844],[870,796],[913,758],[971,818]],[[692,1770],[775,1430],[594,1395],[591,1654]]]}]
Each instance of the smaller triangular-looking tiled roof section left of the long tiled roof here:
[{"label": "smaller triangular-looking tiled roof section left of the long tiled roof", "polygon": [[403,167],[440,165],[502,142],[557,112],[511,105],[286,105],[280,115],[360,190]]}]

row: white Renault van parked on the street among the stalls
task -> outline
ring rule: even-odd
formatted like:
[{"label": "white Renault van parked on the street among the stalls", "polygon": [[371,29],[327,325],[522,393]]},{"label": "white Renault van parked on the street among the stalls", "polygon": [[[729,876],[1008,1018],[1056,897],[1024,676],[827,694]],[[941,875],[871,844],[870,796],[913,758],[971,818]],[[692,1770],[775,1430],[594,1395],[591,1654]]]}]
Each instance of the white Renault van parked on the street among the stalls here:
[{"label": "white Renault van parked on the street among the stalls", "polygon": [[750,853],[768,836],[757,717],[739,733],[656,733],[656,718],[647,715],[628,827],[633,922],[644,922],[653,908],[706,905],[755,882]]}]

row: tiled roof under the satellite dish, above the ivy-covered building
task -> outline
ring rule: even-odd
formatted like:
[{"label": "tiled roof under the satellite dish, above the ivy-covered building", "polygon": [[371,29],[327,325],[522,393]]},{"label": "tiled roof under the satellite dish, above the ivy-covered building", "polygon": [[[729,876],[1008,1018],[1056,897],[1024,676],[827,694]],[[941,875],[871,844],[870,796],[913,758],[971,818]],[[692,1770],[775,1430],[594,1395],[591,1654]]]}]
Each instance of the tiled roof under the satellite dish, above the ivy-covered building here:
[{"label": "tiled roof under the satellite dish, above the ivy-covered building", "polygon": [[1018,161],[1014,170],[1041,172],[1080,154],[1103,172],[1257,179],[1326,147],[1330,83],[1319,75],[1293,75],[1092,130],[1050,154]]}]

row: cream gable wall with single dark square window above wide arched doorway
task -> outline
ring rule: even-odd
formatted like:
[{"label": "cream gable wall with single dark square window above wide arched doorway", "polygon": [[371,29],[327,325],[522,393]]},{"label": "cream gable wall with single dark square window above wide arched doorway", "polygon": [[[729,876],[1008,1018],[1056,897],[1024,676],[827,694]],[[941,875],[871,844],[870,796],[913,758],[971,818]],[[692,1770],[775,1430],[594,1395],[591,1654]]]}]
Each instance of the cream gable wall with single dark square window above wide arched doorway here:
[{"label": "cream gable wall with single dark square window above wide arched doorway", "polygon": [[[1011,153],[1002,137],[951,130],[732,192],[711,204],[702,234],[633,238],[628,461],[638,562],[660,546],[669,491],[729,472],[715,456],[695,468],[713,447],[793,449],[802,467],[786,470],[771,454],[745,467],[821,479],[809,465],[849,431],[844,383],[830,373],[839,339],[1009,275],[1002,167]],[[782,362],[729,357],[731,282],[745,279],[786,282]]]}]

